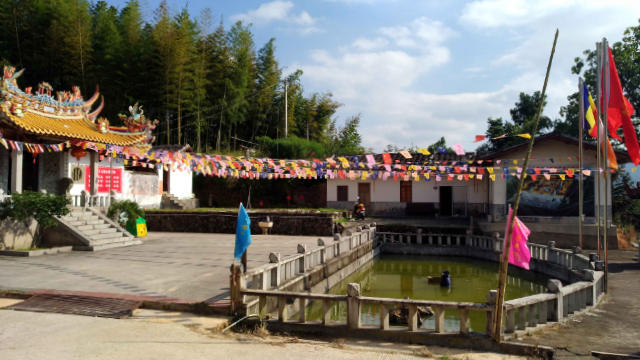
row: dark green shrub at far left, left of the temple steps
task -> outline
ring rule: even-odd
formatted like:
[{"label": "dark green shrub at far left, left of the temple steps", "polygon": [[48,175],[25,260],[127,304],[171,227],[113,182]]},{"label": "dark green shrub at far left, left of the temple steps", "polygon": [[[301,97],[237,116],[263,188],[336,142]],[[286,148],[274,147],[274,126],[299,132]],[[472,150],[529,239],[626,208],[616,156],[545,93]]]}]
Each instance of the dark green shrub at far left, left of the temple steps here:
[{"label": "dark green shrub at far left, left of the temple steps", "polygon": [[33,191],[12,194],[0,203],[0,220],[13,219],[26,222],[33,218],[44,229],[57,225],[54,216],[67,215],[70,203],[69,199],[63,195]]}]

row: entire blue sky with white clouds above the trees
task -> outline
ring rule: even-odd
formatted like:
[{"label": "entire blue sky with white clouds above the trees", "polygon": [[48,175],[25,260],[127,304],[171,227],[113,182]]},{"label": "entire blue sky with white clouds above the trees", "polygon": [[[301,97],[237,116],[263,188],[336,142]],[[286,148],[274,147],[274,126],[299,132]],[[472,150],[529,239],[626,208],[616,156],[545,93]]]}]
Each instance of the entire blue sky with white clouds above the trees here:
[{"label": "entire blue sky with white clouds above the trees", "polygon": [[[124,0],[111,0],[121,6]],[[159,0],[141,0],[152,16]],[[340,121],[361,114],[365,146],[426,146],[441,136],[473,150],[487,117],[508,118],[521,91],[542,88],[560,29],[546,115],[577,88],[573,59],[638,24],[636,0],[169,0],[252,23],[256,47],[276,38],[285,72],[306,92],[332,92]]]}]

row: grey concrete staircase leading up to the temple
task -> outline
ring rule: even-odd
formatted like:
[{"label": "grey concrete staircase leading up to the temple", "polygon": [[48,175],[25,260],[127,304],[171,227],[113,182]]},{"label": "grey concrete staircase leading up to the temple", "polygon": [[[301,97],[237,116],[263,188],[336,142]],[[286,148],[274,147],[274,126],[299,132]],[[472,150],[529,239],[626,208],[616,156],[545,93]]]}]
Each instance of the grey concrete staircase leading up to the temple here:
[{"label": "grey concrete staircase leading up to the temple", "polygon": [[95,209],[73,208],[68,215],[59,217],[58,221],[78,240],[73,250],[98,251],[142,244],[142,241]]}]

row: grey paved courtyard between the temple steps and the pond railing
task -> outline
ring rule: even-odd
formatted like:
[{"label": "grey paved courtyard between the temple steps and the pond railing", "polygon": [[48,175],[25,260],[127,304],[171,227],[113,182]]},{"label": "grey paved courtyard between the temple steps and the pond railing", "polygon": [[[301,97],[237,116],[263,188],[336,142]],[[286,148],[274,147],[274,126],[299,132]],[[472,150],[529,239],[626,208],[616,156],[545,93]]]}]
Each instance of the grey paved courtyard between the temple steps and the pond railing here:
[{"label": "grey paved courtyard between the temple steps and the pond railing", "polygon": [[[229,294],[233,234],[149,233],[142,245],[38,257],[0,256],[0,289],[76,290],[189,300]],[[296,253],[318,237],[253,235],[248,267],[269,262],[270,252]],[[325,237],[325,240],[330,238]]]}]

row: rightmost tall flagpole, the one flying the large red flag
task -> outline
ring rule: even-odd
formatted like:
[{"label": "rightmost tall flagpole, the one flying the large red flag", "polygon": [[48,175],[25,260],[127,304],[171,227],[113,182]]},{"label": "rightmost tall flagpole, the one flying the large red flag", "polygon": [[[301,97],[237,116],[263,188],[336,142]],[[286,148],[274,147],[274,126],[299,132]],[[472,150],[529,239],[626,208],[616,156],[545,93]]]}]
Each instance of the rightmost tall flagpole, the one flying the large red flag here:
[{"label": "rightmost tall flagpole, the one flying the large red flag", "polygon": [[[602,113],[604,114],[604,141],[608,141],[609,140],[609,116],[608,116],[608,111],[609,111],[609,81],[610,81],[610,71],[609,71],[609,45],[607,43],[607,39],[603,38],[602,39],[602,56],[604,59],[604,66],[603,69],[605,69],[604,71],[604,103],[603,103],[603,111]],[[606,145],[605,145],[606,146]],[[607,162],[607,155],[608,155],[609,151],[605,151],[604,152],[604,169],[605,169],[605,177],[604,177],[604,185],[605,185],[605,189],[604,189],[604,291],[607,292],[607,275],[609,273],[608,271],[608,267],[609,267],[609,252],[607,249],[607,228],[609,227],[609,221],[608,221],[608,217],[609,217],[609,179],[610,179],[610,175],[609,175],[609,163]]]}]

